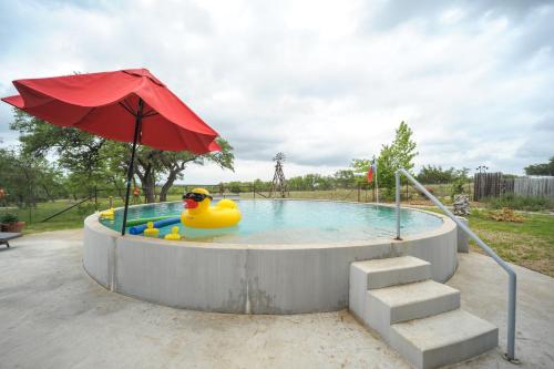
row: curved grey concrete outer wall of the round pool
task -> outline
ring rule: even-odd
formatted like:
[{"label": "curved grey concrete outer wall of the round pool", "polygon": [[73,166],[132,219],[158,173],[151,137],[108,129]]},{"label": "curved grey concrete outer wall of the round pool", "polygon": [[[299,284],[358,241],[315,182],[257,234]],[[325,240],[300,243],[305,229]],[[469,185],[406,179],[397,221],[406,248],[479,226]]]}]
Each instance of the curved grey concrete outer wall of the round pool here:
[{"label": "curved grey concrete outer wall of the round pool", "polygon": [[402,240],[234,245],[122,237],[94,214],[84,221],[83,267],[112,291],[172,307],[234,314],[340,310],[348,307],[352,262],[412,255],[431,263],[437,281],[454,274],[456,226],[433,215],[443,219],[440,227]]}]

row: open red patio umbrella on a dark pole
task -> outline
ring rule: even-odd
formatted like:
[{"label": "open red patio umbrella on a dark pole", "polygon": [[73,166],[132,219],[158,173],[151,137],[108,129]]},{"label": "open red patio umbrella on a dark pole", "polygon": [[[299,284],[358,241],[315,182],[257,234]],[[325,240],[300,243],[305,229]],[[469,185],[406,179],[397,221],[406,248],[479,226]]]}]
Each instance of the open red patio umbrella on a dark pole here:
[{"label": "open red patio umbrella on a dark pole", "polygon": [[125,235],[136,143],[204,154],[218,151],[217,132],[146,69],[16,80],[19,95],[2,101],[59,126],[132,142],[123,226]]}]

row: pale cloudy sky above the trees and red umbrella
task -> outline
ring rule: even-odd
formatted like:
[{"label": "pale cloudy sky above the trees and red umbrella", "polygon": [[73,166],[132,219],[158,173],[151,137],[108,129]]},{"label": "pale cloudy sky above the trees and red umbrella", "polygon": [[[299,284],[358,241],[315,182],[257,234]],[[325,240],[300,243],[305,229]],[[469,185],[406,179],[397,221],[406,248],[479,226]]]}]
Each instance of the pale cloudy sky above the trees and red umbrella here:
[{"label": "pale cloudy sky above the trees and red umbrella", "polygon": [[402,120],[418,166],[554,156],[552,1],[0,0],[0,21],[2,96],[74,71],[163,80],[235,147],[235,173],[192,166],[187,183],[270,180],[279,151],[288,176],[330,174]]}]

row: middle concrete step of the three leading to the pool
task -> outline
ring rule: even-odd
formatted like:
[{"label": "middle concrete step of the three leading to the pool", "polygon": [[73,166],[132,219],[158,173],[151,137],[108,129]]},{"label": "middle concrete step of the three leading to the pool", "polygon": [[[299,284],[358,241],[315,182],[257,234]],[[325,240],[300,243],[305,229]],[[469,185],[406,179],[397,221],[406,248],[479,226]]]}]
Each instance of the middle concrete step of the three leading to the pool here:
[{"label": "middle concrete step of the three leading to the pool", "polygon": [[390,325],[460,308],[460,291],[428,279],[367,293],[367,324],[387,337]]}]

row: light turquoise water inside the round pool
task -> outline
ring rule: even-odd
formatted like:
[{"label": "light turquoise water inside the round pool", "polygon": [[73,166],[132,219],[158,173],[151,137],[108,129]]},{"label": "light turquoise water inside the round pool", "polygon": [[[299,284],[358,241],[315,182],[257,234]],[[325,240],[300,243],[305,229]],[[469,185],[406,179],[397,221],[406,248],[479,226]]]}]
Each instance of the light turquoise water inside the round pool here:
[{"label": "light turquoise water inside the round pool", "polygon": [[[216,204],[214,201],[213,204]],[[393,237],[396,213],[393,207],[372,204],[353,204],[315,201],[243,199],[237,201],[243,219],[235,227],[195,229],[178,223],[160,228],[160,235],[179,227],[185,240],[232,244],[315,244],[358,242],[371,238]],[[162,203],[135,206],[129,209],[129,219],[175,215],[183,212],[183,203]],[[114,221],[101,223],[120,230],[123,211],[115,212]],[[401,209],[403,235],[438,228],[438,216]]]}]

